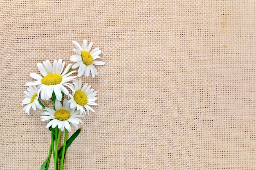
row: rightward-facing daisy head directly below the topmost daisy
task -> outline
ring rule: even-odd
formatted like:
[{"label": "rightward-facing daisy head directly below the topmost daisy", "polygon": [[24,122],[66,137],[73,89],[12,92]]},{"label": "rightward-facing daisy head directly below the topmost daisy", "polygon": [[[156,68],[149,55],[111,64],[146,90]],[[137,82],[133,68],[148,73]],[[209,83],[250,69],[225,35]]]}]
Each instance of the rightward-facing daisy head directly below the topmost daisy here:
[{"label": "rightward-facing daisy head directly below the topmost daisy", "polygon": [[[88,84],[83,85],[82,87],[82,80],[74,80],[74,89],[72,89],[72,95],[70,95],[70,108],[77,108],[80,110],[80,114],[87,113],[89,115],[89,110],[94,112],[94,110],[89,105],[97,105],[95,101],[98,99],[95,97],[98,91],[94,91],[93,88],[90,88],[91,85]],[[82,88],[81,88],[82,87]],[[85,108],[85,109],[84,109]]]}]

